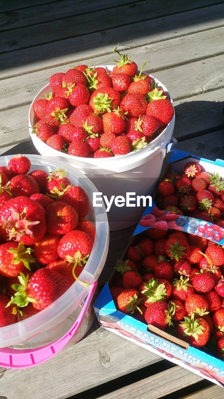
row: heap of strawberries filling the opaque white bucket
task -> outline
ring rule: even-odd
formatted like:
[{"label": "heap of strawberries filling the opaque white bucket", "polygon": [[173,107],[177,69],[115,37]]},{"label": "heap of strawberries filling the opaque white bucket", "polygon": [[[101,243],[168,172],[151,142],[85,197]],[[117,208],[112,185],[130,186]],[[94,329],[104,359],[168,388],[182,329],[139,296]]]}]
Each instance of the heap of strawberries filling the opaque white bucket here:
[{"label": "heap of strawberries filling the opaque white bucket", "polygon": [[[118,46],[117,46],[118,47]],[[49,78],[51,93],[33,104],[33,133],[58,151],[79,157],[108,158],[140,150],[171,121],[167,93],[130,57],[111,73],[78,65]]]}]

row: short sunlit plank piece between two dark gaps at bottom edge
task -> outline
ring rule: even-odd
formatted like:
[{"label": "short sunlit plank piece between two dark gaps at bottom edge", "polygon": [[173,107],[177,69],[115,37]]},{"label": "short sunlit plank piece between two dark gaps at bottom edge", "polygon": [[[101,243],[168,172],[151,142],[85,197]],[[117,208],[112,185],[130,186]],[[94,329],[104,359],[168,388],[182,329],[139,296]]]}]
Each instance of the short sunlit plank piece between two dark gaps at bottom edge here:
[{"label": "short sunlit plank piece between two dark gaps at bottom edge", "polygon": [[[175,378],[171,378],[171,375],[175,375]],[[145,399],[146,397],[158,399],[177,391],[180,387],[184,388],[201,380],[202,377],[199,375],[177,366],[100,396],[98,399]]]}]

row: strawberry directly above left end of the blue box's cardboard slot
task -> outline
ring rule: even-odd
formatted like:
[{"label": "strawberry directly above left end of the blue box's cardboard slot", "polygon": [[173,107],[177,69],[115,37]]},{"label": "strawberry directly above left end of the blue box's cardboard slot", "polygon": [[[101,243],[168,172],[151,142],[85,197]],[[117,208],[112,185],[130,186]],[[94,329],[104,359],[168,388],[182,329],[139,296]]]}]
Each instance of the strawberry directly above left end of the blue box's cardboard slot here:
[{"label": "strawberry directly above left end of the blue box's cardboard slot", "polygon": [[147,324],[155,326],[160,330],[165,330],[169,324],[168,305],[164,301],[156,301],[150,304],[145,312]]}]

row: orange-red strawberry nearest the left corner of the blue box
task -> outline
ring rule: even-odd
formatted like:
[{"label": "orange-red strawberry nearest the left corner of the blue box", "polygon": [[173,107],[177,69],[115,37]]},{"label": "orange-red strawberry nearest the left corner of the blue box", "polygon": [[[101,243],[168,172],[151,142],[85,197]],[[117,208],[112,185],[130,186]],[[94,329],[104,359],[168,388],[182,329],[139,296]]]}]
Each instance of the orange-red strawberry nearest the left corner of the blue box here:
[{"label": "orange-red strawberry nearest the left corner of the blue box", "polygon": [[140,294],[135,288],[123,289],[117,296],[118,309],[126,314],[134,313],[140,303]]}]

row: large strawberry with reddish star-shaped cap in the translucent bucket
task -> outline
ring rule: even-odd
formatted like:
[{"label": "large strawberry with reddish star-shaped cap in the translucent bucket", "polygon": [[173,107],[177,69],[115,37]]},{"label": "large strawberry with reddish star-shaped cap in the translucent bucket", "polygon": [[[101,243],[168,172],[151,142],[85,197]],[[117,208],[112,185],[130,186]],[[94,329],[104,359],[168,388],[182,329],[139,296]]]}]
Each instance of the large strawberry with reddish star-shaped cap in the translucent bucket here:
[{"label": "large strawberry with reddish star-shaped cap in the translucent bucket", "polygon": [[43,207],[27,197],[12,198],[0,208],[0,235],[25,245],[39,241],[46,231]]}]

